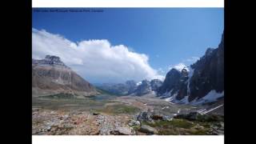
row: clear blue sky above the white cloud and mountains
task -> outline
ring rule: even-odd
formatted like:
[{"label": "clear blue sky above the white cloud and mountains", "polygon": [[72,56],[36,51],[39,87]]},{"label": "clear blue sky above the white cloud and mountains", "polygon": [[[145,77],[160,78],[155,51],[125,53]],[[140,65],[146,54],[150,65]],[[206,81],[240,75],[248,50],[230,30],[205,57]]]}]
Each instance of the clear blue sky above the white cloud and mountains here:
[{"label": "clear blue sky above the white cloud and mountains", "polygon": [[[36,9],[34,9],[36,10]],[[103,12],[33,12],[32,26],[71,42],[107,39],[149,57],[155,70],[186,65],[216,48],[224,29],[223,8],[100,9]],[[190,60],[189,60],[190,59]]]}]

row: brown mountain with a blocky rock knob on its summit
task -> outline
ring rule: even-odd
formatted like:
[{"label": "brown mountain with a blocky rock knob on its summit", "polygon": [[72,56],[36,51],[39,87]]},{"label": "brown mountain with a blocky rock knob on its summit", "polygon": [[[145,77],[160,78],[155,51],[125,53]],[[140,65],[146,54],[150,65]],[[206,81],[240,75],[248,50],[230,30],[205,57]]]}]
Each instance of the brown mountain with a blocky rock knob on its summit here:
[{"label": "brown mountain with a blocky rock knob on its summit", "polygon": [[94,86],[66,66],[57,56],[32,59],[32,94],[74,94],[78,97],[98,94]]}]

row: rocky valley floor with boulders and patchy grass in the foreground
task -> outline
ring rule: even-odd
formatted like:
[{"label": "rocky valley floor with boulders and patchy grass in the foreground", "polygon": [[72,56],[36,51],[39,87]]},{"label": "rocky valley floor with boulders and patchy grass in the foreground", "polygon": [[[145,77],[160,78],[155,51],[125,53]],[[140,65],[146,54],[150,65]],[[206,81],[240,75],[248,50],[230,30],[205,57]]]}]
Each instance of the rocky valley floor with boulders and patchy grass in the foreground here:
[{"label": "rocky valley floor with boulders and patchy grass in the foreground", "polygon": [[36,97],[32,130],[36,135],[223,134],[222,116],[200,114],[204,108],[152,94],[107,100]]}]

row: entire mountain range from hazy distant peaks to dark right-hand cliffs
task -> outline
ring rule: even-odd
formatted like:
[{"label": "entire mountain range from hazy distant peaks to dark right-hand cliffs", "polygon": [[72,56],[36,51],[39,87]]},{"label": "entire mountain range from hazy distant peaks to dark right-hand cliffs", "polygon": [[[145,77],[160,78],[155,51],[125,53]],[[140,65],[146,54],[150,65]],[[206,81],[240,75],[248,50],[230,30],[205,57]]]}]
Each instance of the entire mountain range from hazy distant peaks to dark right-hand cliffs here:
[{"label": "entire mountain range from hazy distant peaks to dark right-hand cliffs", "polygon": [[156,94],[166,101],[200,105],[224,98],[224,37],[216,49],[208,48],[197,62],[182,70],[171,69],[164,82],[159,79],[103,84],[114,94],[142,96]]}]

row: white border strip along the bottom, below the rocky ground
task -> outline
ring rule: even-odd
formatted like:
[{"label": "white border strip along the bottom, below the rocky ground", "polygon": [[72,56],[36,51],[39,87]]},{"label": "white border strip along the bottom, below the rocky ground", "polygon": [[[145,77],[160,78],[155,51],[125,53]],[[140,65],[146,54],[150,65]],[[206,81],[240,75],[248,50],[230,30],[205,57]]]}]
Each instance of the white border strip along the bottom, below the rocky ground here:
[{"label": "white border strip along the bottom, below the rocky ground", "polygon": [[224,136],[32,136],[33,144],[224,144]]}]

